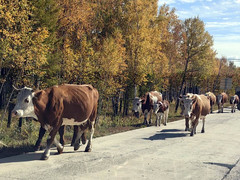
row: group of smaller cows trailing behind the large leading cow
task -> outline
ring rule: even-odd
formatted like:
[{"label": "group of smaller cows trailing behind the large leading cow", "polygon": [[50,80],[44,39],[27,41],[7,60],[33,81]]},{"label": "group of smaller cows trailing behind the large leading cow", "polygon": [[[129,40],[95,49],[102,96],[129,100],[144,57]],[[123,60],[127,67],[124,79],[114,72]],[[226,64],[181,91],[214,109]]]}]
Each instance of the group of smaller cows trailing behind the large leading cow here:
[{"label": "group of smaller cows trailing behind the large leading cow", "polygon": [[[206,115],[212,113],[213,105],[217,103],[218,113],[223,113],[223,105],[228,101],[228,95],[221,93],[215,96],[212,92],[206,94],[192,94],[187,93],[186,95],[180,96],[180,107],[181,115],[185,117],[185,131],[189,131],[189,120],[191,120],[191,136],[196,134],[196,127],[199,119],[202,119],[202,133],[204,133],[205,118]],[[239,103],[238,95],[234,95],[230,98],[231,112],[236,111],[236,106]],[[152,119],[152,113],[156,115],[156,126],[160,126],[161,119],[163,118],[163,124],[167,124],[168,113],[169,113],[169,102],[163,100],[162,94],[157,91],[151,91],[144,94],[141,98],[135,97],[133,100],[133,113],[139,117],[142,112],[144,114],[144,124],[149,125]],[[148,114],[150,118],[148,120]]]}]

